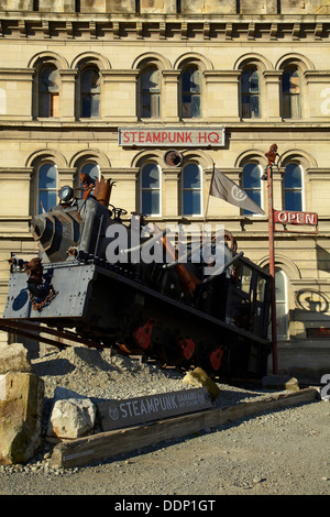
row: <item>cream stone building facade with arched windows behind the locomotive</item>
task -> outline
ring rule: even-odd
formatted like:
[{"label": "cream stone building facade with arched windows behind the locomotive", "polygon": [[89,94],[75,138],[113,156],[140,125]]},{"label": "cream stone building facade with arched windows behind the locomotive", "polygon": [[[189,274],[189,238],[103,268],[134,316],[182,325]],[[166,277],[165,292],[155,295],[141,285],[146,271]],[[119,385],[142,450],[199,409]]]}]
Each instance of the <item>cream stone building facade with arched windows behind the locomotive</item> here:
[{"label": "cream stone building facade with arched windows behind the locomotive", "polygon": [[[275,209],[318,215],[317,233],[275,234],[279,372],[330,372],[329,14],[327,0],[0,0],[0,311],[10,254],[36,253],[31,217],[81,170],[161,226],[207,208],[266,268],[276,143]],[[209,199],[213,164],[265,216]]]}]

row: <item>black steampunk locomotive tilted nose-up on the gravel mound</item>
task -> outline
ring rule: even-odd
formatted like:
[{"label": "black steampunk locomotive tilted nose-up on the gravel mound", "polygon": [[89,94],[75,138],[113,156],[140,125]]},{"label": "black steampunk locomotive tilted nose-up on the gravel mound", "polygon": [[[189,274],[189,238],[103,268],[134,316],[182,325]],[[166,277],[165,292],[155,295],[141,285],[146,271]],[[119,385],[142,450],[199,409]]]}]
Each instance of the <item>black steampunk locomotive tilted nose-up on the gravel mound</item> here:
[{"label": "black steampunk locomotive tilted nose-up on the gravel mound", "polygon": [[30,262],[11,257],[0,327],[58,346],[70,339],[163,365],[201,366],[219,377],[265,375],[268,275],[238,253],[227,232],[211,232],[207,257],[201,235],[179,253],[168,229],[110,205],[111,188],[103,177],[85,185],[82,198],[64,187],[59,204],[32,220],[40,253]]}]

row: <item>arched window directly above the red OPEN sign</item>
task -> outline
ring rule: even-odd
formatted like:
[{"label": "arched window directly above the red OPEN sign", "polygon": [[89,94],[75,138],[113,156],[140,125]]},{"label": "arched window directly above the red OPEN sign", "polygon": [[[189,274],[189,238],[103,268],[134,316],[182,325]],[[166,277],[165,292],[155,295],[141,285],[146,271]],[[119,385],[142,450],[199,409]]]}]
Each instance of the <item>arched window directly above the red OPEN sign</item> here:
[{"label": "arched window directly above the red OPEN sign", "polygon": [[302,199],[302,169],[299,164],[289,163],[283,175],[284,209],[301,211]]}]

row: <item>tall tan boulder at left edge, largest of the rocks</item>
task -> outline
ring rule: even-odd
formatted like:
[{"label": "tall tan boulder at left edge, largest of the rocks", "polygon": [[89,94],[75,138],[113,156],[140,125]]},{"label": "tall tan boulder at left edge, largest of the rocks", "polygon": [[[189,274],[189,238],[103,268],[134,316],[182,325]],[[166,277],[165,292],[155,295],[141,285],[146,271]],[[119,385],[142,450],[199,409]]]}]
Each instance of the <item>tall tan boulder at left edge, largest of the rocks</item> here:
[{"label": "tall tan boulder at left edge, largest of the rocks", "polygon": [[41,444],[44,382],[32,373],[0,378],[0,464],[26,463]]}]

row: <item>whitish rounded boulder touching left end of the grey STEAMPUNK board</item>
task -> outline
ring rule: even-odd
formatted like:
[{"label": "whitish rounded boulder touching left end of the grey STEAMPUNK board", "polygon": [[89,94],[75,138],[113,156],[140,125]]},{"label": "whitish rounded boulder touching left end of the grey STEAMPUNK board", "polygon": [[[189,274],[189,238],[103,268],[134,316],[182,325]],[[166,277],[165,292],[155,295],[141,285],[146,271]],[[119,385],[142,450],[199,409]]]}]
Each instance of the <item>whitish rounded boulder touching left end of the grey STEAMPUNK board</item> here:
[{"label": "whitish rounded boulder touching left end of the grey STEAMPUNK board", "polygon": [[69,440],[92,431],[96,406],[89,398],[65,398],[55,402],[47,426],[47,439]]}]

